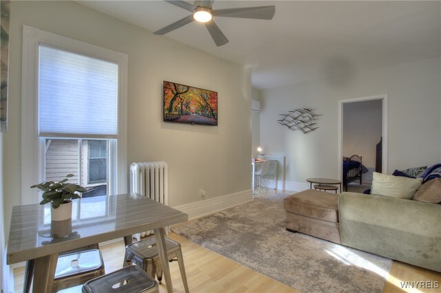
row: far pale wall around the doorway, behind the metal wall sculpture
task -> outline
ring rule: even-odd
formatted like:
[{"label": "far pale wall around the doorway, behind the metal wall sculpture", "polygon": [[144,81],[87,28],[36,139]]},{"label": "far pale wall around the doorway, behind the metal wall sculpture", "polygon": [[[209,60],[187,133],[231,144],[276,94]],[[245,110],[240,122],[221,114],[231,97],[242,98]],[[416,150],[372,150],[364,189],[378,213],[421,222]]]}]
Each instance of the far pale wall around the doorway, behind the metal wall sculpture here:
[{"label": "far pale wall around the doorway, behind the metal wall sculpture", "polygon": [[[338,100],[388,95],[388,173],[441,161],[440,58],[358,72],[347,83],[316,80],[260,91],[260,143],[287,156],[287,189],[307,188],[307,177],[338,174]],[[316,109],[319,129],[290,131],[278,114]],[[291,187],[290,187],[291,186]]]}]

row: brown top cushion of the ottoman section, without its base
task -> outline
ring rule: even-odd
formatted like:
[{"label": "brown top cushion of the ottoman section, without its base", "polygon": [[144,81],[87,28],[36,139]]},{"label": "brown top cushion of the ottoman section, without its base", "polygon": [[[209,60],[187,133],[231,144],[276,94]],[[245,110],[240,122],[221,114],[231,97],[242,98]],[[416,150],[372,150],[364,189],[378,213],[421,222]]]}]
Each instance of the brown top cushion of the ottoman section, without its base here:
[{"label": "brown top cushion of the ottoman section, without its base", "polygon": [[283,208],[287,212],[338,222],[338,196],[332,193],[311,189],[294,193],[284,199]]}]

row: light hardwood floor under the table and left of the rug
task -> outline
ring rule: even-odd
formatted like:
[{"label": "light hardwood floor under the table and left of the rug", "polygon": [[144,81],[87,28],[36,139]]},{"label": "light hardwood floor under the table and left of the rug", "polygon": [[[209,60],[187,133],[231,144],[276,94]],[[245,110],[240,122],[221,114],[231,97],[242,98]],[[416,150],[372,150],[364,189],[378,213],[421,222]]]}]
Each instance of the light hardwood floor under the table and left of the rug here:
[{"label": "light hardwood floor under the table and left of the rug", "polygon": [[[190,292],[298,292],[173,232],[167,237],[181,243]],[[121,268],[124,257],[122,239],[100,249],[106,272]],[[170,263],[170,273],[174,292],[185,292],[176,261]],[[14,270],[15,292],[22,292],[23,276],[24,268]],[[165,283],[159,286],[159,292],[167,292]]]}]

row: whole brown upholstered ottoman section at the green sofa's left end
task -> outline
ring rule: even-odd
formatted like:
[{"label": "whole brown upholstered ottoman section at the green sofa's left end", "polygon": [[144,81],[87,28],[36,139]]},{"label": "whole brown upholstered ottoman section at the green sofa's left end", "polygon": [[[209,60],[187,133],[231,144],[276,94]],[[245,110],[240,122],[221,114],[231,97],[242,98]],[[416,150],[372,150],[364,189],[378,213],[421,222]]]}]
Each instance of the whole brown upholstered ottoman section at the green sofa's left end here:
[{"label": "whole brown upholstered ottoman section at the green sofa's left end", "polygon": [[286,197],[283,208],[288,231],[340,243],[338,195],[309,189]]}]

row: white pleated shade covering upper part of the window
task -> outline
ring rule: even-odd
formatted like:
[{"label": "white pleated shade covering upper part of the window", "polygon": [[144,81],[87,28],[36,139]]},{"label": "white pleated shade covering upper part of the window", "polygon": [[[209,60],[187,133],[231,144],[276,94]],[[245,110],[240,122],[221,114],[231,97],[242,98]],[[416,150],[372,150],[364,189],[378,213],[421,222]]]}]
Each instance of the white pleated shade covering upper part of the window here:
[{"label": "white pleated shade covering upper part of the window", "polygon": [[39,136],[116,138],[118,64],[39,47]]}]

